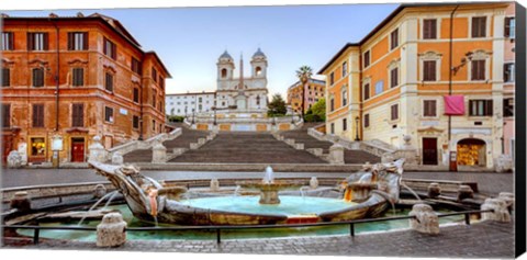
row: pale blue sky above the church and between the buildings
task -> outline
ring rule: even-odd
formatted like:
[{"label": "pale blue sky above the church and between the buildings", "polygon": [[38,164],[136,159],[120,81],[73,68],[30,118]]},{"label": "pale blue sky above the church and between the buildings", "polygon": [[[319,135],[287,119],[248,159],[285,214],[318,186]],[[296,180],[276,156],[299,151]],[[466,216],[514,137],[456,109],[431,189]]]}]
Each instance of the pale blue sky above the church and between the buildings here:
[{"label": "pale blue sky above the church and between the buildings", "polygon": [[[214,91],[216,61],[226,49],[244,56],[244,75],[258,49],[268,58],[269,95],[287,95],[303,65],[316,74],[348,42],[358,42],[399,4],[215,7],[8,11],[11,16],[85,15],[119,20],[144,50],[155,50],[168,68],[167,93]],[[319,78],[319,77],[318,77]]]}]

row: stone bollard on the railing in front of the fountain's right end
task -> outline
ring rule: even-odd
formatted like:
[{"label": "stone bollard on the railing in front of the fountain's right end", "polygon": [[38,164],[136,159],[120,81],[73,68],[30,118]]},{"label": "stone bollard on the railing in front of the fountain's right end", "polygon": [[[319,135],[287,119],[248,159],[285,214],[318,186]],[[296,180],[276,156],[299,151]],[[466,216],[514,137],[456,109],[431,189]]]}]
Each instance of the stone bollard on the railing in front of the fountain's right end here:
[{"label": "stone bollard on the railing in front of the fountain's right end", "polygon": [[408,215],[415,216],[410,219],[412,229],[424,234],[439,234],[439,217],[430,205],[415,204]]}]

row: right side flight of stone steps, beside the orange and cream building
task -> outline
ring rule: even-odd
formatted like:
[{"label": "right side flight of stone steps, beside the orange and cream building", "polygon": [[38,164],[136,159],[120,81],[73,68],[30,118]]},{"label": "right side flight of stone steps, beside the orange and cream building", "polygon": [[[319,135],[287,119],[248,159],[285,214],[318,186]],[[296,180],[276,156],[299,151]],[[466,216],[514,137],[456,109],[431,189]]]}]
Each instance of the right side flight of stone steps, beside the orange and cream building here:
[{"label": "right side flight of stone steps, beside the orange and cream building", "polygon": [[[328,140],[319,140],[315,137],[307,134],[309,128],[314,127],[319,123],[305,123],[302,128],[294,129],[294,131],[287,131],[281,132],[280,135],[283,136],[284,139],[294,139],[296,144],[304,144],[304,149],[314,152],[314,149],[322,149],[323,157],[329,152],[329,147],[334,145],[332,142]],[[365,163],[369,161],[370,163],[380,162],[381,158],[372,155],[371,152],[367,152],[365,150],[350,150],[345,149],[344,151],[344,161],[345,163]]]}]

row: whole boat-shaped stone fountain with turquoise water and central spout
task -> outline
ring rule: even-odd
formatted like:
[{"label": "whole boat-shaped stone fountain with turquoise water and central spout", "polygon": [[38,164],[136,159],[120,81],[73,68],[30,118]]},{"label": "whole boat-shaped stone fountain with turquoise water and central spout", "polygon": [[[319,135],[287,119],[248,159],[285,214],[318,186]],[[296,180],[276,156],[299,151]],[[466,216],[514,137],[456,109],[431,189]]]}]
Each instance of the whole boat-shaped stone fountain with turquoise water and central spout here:
[{"label": "whole boat-shaped stone fountain with turquoise water and central spout", "polygon": [[[133,166],[113,166],[89,161],[97,172],[108,178],[121,191],[135,217],[144,222],[177,225],[265,225],[299,222],[338,222],[375,217],[399,201],[404,160],[365,166],[343,182],[344,200],[325,197],[335,189],[304,189],[303,181],[276,180],[272,168],[266,169],[261,180],[239,181],[237,190],[259,191],[260,195],[211,194],[186,188],[161,185],[144,177]],[[315,185],[313,185],[315,186]],[[307,186],[305,186],[307,188]],[[300,195],[281,195],[294,190]],[[307,192],[309,191],[309,192]],[[318,195],[310,195],[318,192]],[[321,193],[327,192],[327,193]],[[247,194],[247,193],[244,193]],[[338,194],[338,193],[337,193]],[[183,199],[181,199],[183,197]]]}]

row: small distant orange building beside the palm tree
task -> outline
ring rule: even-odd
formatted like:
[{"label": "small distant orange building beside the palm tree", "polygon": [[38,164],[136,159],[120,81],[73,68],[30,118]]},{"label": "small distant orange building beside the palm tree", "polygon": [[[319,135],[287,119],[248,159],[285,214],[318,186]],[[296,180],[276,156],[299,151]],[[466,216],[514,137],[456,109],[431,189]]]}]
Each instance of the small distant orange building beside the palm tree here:
[{"label": "small distant orange building beside the palm tree", "polygon": [[304,104],[304,112],[307,112],[314,103],[324,98],[326,81],[310,79],[304,88],[305,102],[302,102],[302,83],[300,81],[288,88],[288,104],[291,105],[295,113],[302,113],[302,103]]}]

